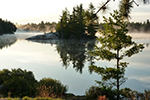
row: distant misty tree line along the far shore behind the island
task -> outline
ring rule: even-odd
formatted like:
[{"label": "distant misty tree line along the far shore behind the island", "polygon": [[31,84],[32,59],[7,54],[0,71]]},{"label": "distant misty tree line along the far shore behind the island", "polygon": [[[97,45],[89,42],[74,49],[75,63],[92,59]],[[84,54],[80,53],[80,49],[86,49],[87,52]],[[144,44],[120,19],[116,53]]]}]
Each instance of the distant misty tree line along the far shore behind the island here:
[{"label": "distant misty tree line along the far shore behind the island", "polygon": [[[95,32],[97,32],[98,30],[103,30],[104,29],[103,24],[104,23],[99,23],[99,24],[95,25],[95,29],[94,29],[94,27],[92,28],[92,24],[90,24],[88,30],[86,30],[86,31],[88,31],[91,34],[93,33],[93,35],[95,35]],[[56,29],[57,29],[58,32],[61,32],[61,30],[59,29],[59,27],[60,27],[59,25],[60,25],[59,22],[56,23],[56,22],[41,21],[38,24],[28,23],[28,24],[25,24],[25,25],[17,25],[17,28],[18,28],[18,30],[23,30],[23,31],[38,31],[38,32],[45,32],[45,33],[46,32],[56,32]],[[78,27],[76,27],[76,28],[78,28]],[[149,21],[149,19],[147,19],[144,22],[129,22],[128,23],[128,29],[129,29],[129,32],[149,33],[150,32],[150,21]],[[65,31],[65,30],[67,30],[67,28],[63,29],[63,31]],[[68,31],[71,32],[72,30],[68,29]],[[66,35],[66,37],[69,37],[69,35],[67,35],[67,34],[69,34],[69,32],[64,33],[64,34]]]}]

